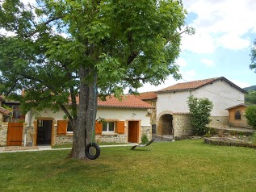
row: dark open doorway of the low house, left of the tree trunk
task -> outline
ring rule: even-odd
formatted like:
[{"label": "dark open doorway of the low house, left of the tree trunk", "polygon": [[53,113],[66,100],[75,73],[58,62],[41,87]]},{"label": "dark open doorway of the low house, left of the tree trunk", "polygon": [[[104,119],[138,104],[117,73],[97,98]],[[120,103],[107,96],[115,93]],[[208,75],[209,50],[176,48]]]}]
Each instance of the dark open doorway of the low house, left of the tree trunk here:
[{"label": "dark open doorway of the low house, left of the tree trunk", "polygon": [[51,144],[52,120],[37,120],[36,144]]}]

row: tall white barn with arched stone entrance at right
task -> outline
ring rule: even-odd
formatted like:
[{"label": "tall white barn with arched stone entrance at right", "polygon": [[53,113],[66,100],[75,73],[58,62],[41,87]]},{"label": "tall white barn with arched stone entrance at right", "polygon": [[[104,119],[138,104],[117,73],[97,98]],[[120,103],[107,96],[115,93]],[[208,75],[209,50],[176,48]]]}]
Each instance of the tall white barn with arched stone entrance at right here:
[{"label": "tall white barn with arched stone entrance at right", "polygon": [[[153,119],[153,122],[156,123],[156,134],[179,137],[191,135],[192,132],[191,117],[187,106],[188,97],[191,95],[195,98],[208,98],[213,102],[212,121],[208,125],[209,127],[223,127],[224,124],[248,127],[244,116],[246,107],[244,94],[246,93],[246,90],[241,89],[225,77],[216,77],[178,83],[154,92],[157,94],[157,99],[150,99],[150,97],[141,99],[156,101],[154,111],[156,119]],[[141,95],[150,94],[148,92]],[[241,106],[243,106],[242,109]],[[229,113],[232,109],[241,115],[241,119],[236,119],[237,123],[235,124],[231,122],[234,118],[233,113]]]}]

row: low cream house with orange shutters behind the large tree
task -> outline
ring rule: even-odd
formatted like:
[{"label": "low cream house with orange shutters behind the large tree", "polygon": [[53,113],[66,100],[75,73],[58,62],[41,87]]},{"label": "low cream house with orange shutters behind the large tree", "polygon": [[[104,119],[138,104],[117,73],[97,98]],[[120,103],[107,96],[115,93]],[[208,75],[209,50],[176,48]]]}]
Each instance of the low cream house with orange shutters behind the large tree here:
[{"label": "low cream house with orange shutters behind the large tree", "polygon": [[[107,97],[106,101],[99,100],[96,119],[103,119],[103,123],[95,122],[95,140],[139,143],[143,133],[150,138],[148,109],[151,108],[153,106],[134,95],[126,95],[121,101],[113,96]],[[53,113],[44,109],[39,113],[37,117],[31,113],[26,115],[26,134],[23,134],[27,138],[25,145],[72,143],[73,130],[69,121],[64,119],[63,111]]]}]

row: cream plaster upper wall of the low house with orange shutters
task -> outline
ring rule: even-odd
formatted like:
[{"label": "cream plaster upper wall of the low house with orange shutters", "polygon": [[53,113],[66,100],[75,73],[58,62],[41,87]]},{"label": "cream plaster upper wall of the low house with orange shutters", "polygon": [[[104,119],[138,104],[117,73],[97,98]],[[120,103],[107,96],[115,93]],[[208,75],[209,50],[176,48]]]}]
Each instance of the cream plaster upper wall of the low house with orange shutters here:
[{"label": "cream plaster upper wall of the low house with orange shutters", "polygon": [[[133,109],[133,108],[110,108],[110,107],[99,107],[96,115],[96,119],[116,119],[119,121],[125,120],[141,120],[141,126],[150,126],[150,117],[147,116],[147,109]],[[64,119],[64,112],[58,111],[53,113],[49,109],[41,111],[38,115],[40,118],[54,118],[56,120]],[[31,123],[35,120],[35,115],[31,117]],[[29,123],[29,115],[26,115],[25,122]]]}]

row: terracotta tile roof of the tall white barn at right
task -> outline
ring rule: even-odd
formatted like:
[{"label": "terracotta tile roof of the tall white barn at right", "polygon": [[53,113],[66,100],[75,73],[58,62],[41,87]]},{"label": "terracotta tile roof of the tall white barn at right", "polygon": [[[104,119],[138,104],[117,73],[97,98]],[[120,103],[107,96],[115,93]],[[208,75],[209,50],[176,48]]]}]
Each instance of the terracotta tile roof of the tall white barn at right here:
[{"label": "terracotta tile roof of the tall white barn at right", "polygon": [[216,77],[216,78],[209,78],[209,79],[203,79],[198,81],[189,81],[189,82],[183,82],[183,83],[177,83],[174,86],[166,87],[165,89],[159,90],[157,93],[165,92],[165,91],[181,91],[181,90],[195,90],[198,89],[201,86],[208,85],[214,81],[217,80],[223,80],[228,82],[230,85],[237,88],[237,90],[241,90],[243,93],[247,93],[246,90],[241,89],[241,87],[235,85],[233,82],[229,81],[225,77]]}]

